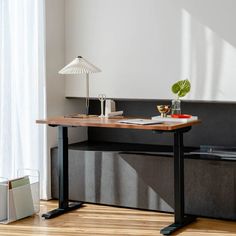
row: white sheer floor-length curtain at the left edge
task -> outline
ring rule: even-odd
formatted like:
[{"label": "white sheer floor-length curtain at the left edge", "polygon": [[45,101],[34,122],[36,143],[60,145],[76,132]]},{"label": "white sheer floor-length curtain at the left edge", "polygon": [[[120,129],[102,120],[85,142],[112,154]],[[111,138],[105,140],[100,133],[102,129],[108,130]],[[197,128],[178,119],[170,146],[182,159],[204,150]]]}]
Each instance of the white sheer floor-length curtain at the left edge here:
[{"label": "white sheer floor-length curtain at the left edge", "polygon": [[44,0],[0,0],[0,176],[38,169],[46,198]]}]

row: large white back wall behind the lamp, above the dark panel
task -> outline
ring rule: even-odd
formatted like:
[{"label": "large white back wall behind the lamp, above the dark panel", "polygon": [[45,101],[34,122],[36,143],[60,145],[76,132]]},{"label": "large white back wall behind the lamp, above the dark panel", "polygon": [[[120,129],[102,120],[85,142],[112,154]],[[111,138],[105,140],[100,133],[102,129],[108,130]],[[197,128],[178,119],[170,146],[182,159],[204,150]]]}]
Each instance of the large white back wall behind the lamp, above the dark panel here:
[{"label": "large white back wall behind the lamp, above the dark panel", "polygon": [[[66,0],[66,63],[78,55],[102,69],[91,96],[171,99],[189,78],[190,100],[236,101],[235,0]],[[85,96],[66,81],[66,96]]]}]

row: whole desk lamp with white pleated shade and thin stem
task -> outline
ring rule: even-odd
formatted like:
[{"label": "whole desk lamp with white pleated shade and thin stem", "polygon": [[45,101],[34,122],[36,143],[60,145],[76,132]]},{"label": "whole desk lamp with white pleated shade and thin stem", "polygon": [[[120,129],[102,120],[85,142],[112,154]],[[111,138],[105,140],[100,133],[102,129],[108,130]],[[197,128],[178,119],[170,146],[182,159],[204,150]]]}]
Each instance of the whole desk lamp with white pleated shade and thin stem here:
[{"label": "whole desk lamp with white pleated shade and thin stem", "polygon": [[101,72],[99,68],[78,56],[58,73],[64,75],[86,74],[86,116],[89,116],[89,74]]}]

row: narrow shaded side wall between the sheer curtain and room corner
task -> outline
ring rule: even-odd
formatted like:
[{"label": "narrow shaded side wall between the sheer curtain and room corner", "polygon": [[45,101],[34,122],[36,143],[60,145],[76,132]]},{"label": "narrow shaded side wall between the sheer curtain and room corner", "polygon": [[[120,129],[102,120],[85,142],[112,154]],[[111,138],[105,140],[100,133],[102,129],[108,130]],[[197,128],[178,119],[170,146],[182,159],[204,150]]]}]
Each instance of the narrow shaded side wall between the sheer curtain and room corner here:
[{"label": "narrow shaded side wall between the sheer curtain and room corner", "polygon": [[[46,0],[46,104],[47,117],[82,112],[83,101],[65,99],[65,79],[58,71],[65,65],[65,5],[64,0]],[[69,130],[70,142],[85,140],[86,129]],[[57,145],[57,129],[47,129],[48,177],[50,178],[50,149]],[[50,186],[48,197],[50,198]]]}]

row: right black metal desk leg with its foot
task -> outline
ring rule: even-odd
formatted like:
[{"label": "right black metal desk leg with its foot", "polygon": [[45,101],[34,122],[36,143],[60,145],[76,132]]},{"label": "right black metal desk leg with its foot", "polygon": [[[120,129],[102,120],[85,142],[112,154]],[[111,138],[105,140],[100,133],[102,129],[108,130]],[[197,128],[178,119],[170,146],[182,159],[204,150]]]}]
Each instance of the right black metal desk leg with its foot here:
[{"label": "right black metal desk leg with its foot", "polygon": [[170,235],[174,231],[190,224],[194,216],[184,215],[184,145],[183,132],[174,133],[174,204],[175,222],[161,230],[161,234]]}]

